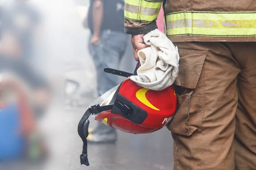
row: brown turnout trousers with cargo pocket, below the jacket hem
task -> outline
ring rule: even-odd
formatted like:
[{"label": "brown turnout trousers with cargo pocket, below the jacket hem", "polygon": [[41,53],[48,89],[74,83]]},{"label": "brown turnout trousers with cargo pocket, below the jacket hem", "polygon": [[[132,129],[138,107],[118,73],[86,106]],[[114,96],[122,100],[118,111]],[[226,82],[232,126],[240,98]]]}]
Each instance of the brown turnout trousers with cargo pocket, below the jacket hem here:
[{"label": "brown turnout trousers with cargo pocket, below the jacket hem", "polygon": [[178,42],[174,170],[256,170],[256,42]]}]

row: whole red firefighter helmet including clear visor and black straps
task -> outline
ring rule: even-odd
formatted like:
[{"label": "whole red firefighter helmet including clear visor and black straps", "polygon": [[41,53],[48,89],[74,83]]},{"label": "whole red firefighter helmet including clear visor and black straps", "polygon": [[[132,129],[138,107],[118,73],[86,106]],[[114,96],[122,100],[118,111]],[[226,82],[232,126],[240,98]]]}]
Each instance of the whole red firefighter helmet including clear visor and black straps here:
[{"label": "whole red firefighter helmet including clear visor and black straps", "polygon": [[[129,74],[105,69],[105,72],[124,77],[136,75],[136,71],[134,74]],[[173,86],[162,91],[153,91],[140,87],[131,79],[126,79],[92,102],[81,118],[78,125],[78,133],[84,143],[80,155],[81,164],[89,165],[86,140],[89,134],[89,116],[127,133],[151,133],[160,130],[171,121],[176,106],[177,96]]]}]

